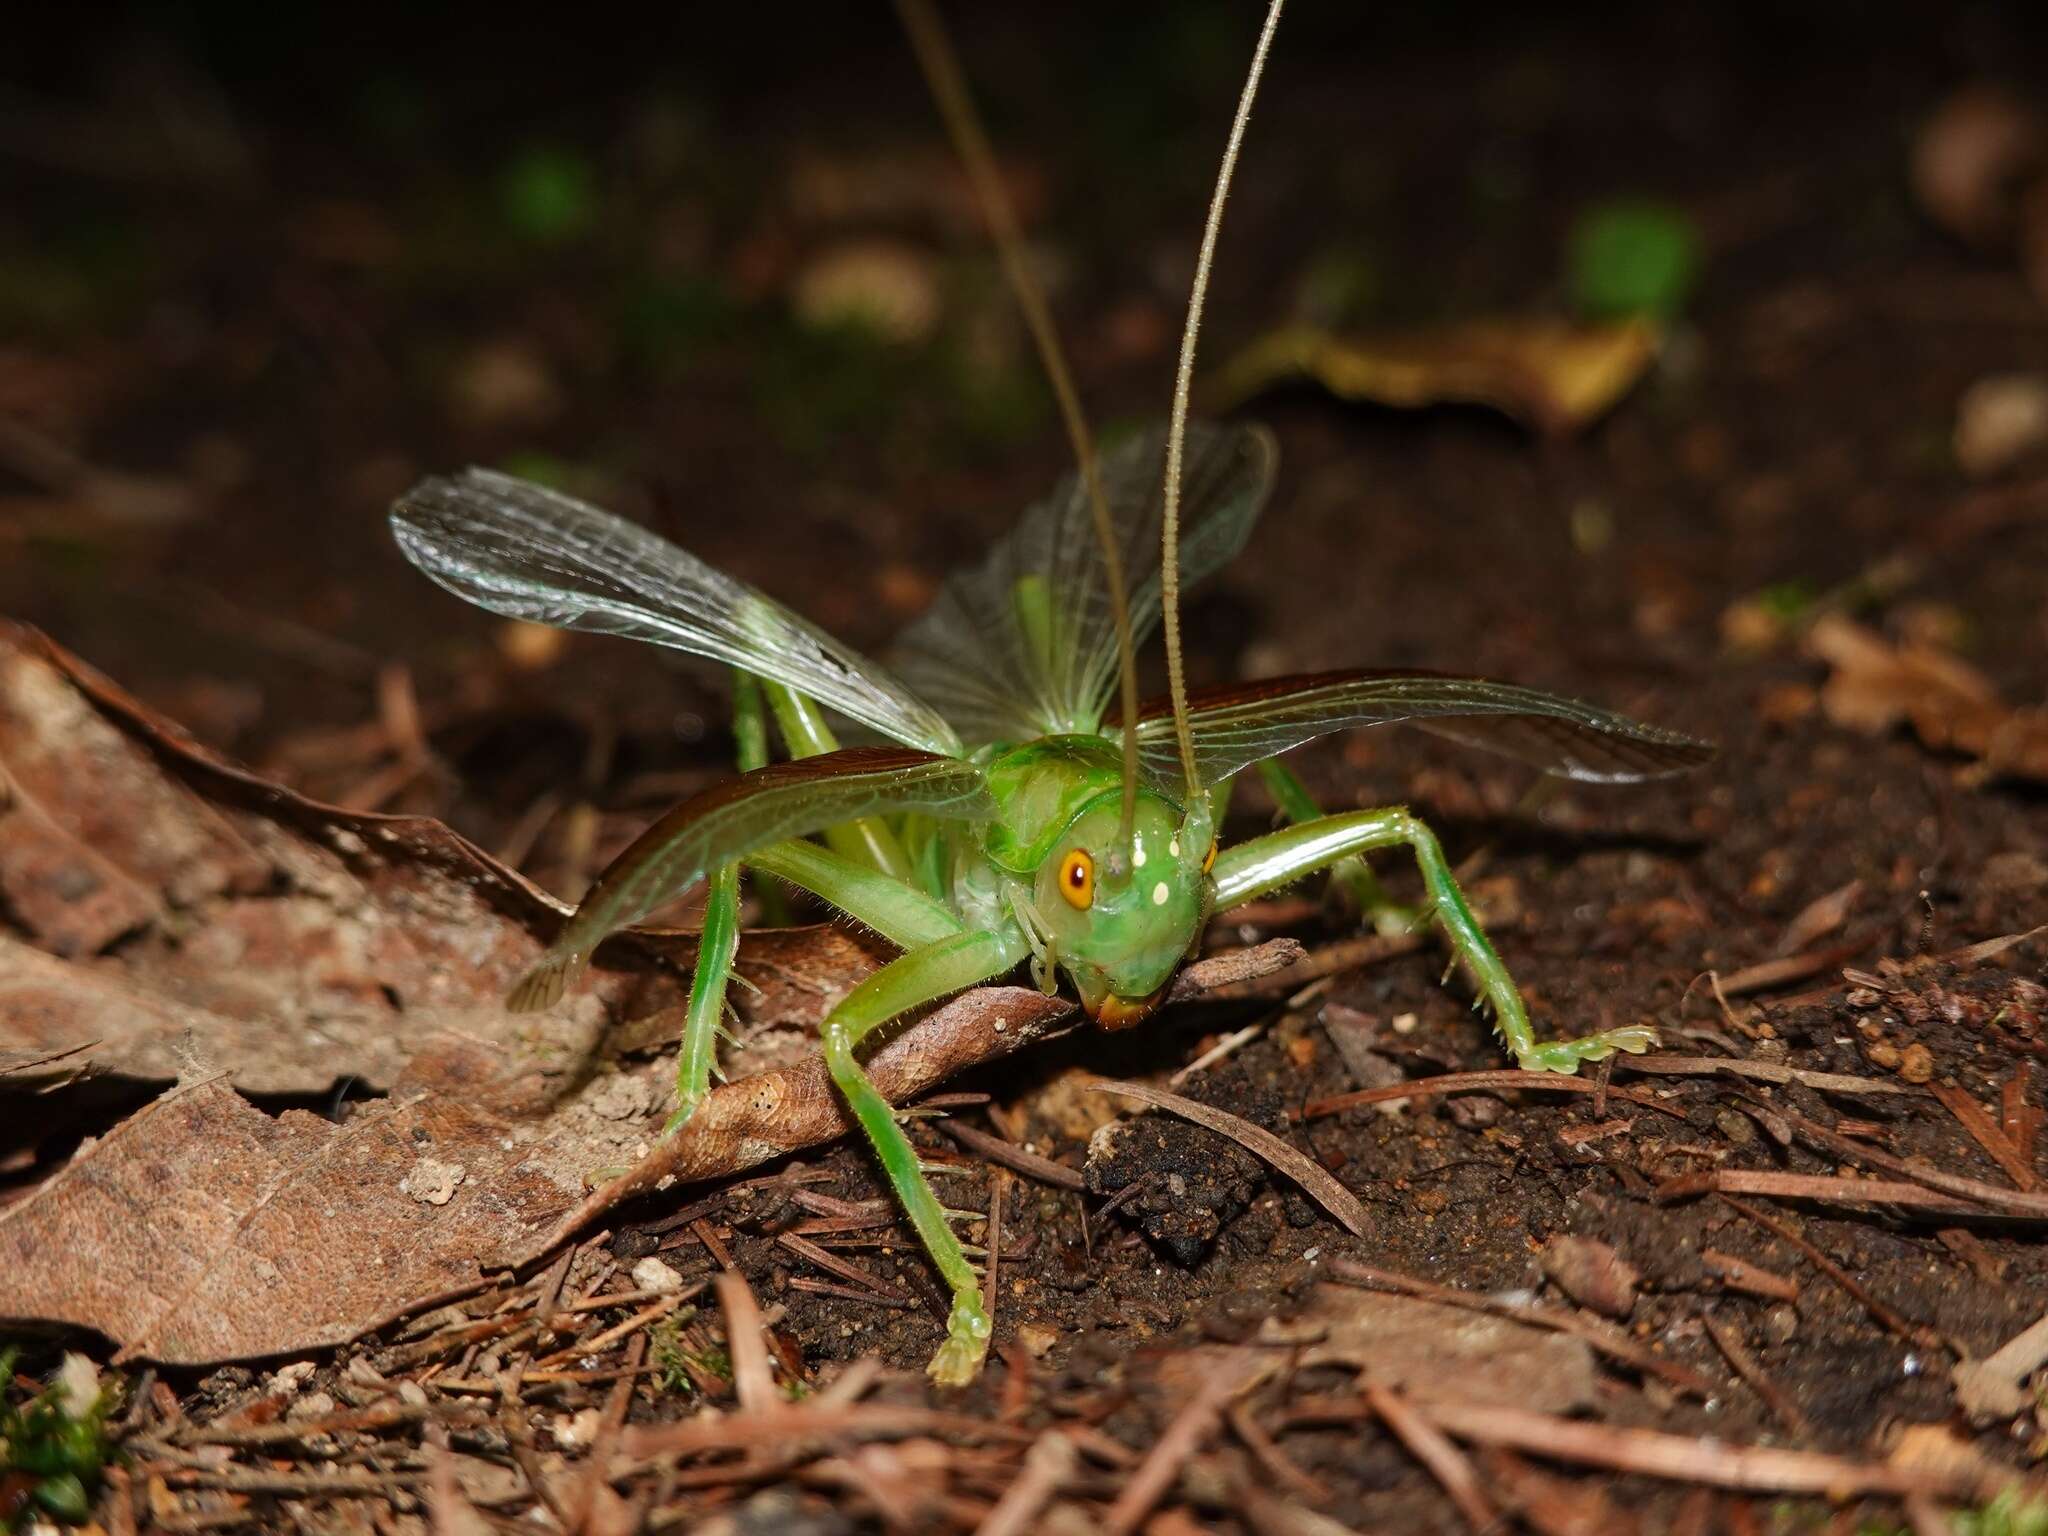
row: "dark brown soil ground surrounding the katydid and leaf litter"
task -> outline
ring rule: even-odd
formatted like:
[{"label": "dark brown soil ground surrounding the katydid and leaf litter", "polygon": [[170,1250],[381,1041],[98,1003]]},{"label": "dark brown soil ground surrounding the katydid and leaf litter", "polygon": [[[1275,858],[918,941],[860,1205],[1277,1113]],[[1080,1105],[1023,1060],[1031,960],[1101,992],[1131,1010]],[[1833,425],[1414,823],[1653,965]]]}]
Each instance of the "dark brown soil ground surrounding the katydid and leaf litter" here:
[{"label": "dark brown soil ground surrounding the katydid and leaf litter", "polygon": [[[961,39],[1030,193],[1098,422],[1163,414],[1247,41],[1235,8],[1167,14],[1057,23],[1024,8],[979,16]],[[1948,449],[1972,381],[2048,362],[2048,309],[2009,264],[1929,229],[1905,184],[1911,133],[1944,92],[2042,63],[2042,37],[2015,16],[1821,6],[1765,20],[1700,6],[1534,31],[1481,8],[1378,31],[1313,14],[1282,27],[1223,242],[1210,358],[1286,313],[1305,272],[1343,262],[1368,289],[1362,322],[1552,307],[1573,211],[1616,193],[1683,205],[1708,242],[1657,373],[1575,440],[1307,389],[1257,401],[1282,442],[1280,487],[1255,545],[1188,612],[1198,682],[1473,670],[1720,743],[1683,780],[1542,797],[1520,768],[1407,733],[1303,754],[1327,805],[1405,801],[1430,819],[1479,901],[1509,913],[1491,930],[1540,1032],[1647,1020],[1667,1051],[1886,1081],[1923,1047],[1935,1083],[1993,1112],[2048,1053],[2048,946],[1939,958],[2048,924],[2042,788],[1978,784],[1962,758],[1913,737],[1837,729],[1812,698],[1825,668],[1796,639],[1737,653],[1722,637],[1722,614],[1759,592],[1831,592],[1905,559],[1911,578],[1866,623],[1894,635],[1935,623],[2005,698],[2048,696],[2048,481],[2025,479],[2044,467],[2007,485],[2017,512],[1987,520],[1985,489]],[[188,516],[137,522],[133,498],[109,512],[16,465],[0,481],[12,498],[0,612],[309,793],[440,815],[557,889],[723,770],[719,682],[608,641],[569,641],[545,664],[508,655],[389,547],[381,510],[416,475],[539,465],[879,649],[950,563],[1061,473],[1057,424],[958,195],[915,176],[905,188],[893,170],[909,152],[942,166],[944,145],[887,16],[842,16],[815,37],[766,16],[719,27],[688,47],[578,41],[563,59],[535,35],[471,55],[453,33],[395,57],[338,43],[309,80],[262,68],[264,47],[293,55],[289,39],[219,51],[180,35],[211,63],[166,88],[219,90],[252,168],[199,182],[174,166],[31,168],[29,197],[0,209],[0,287],[18,311],[0,326],[12,330],[0,416],[100,471],[180,487]],[[96,47],[66,39],[31,84],[84,90],[106,57]],[[473,84],[494,72],[518,84]],[[90,121],[111,139],[121,109],[102,102]],[[494,188],[524,143],[590,168],[588,231],[522,244],[506,229]],[[823,162],[842,203],[881,211],[819,213],[793,168],[813,166],[815,182]],[[936,258],[946,293],[969,295],[973,336],[899,350],[786,317],[807,260],[874,231]],[[74,262],[86,276],[55,299],[29,293],[88,246],[111,254]],[[969,346],[987,354],[973,387],[952,354]],[[541,387],[465,406],[465,377],[469,395],[487,393],[481,348],[516,354],[512,371]],[[381,692],[379,670],[393,662],[444,772],[389,774],[397,674]],[[1257,831],[1264,813],[1241,797],[1233,831]],[[1413,897],[1413,870],[1384,860],[1384,874]],[[1716,1006],[1704,973],[1780,956],[1788,926],[1851,883],[1839,926],[1794,932],[1792,948],[1821,963]],[[1315,948],[1358,932],[1335,905],[1276,915],[1278,928],[1210,942],[1292,932]],[[1874,981],[1845,981],[1845,967]],[[1790,1137],[1784,1110],[1864,1120],[1880,1151],[2009,1184],[1919,1094],[1616,1073],[1616,1087],[1673,1090],[1681,1118],[1538,1094],[1284,1118],[1360,1087],[1360,1063],[1393,1063],[1397,1079],[1501,1065],[1462,979],[1438,985],[1440,971],[1425,950],[1341,973],[1290,1008],[1069,1036],[954,1083],[993,1096],[993,1122],[977,1124],[1085,1161],[1090,1182],[1079,1194],[1008,1176],[997,1364],[956,1407],[1085,1419],[1145,1450],[1178,1407],[1153,1384],[1157,1360],[1251,1339],[1333,1257],[1559,1300],[1538,1251],[1573,1233],[1640,1270],[1638,1339],[1731,1382],[1696,1403],[1616,1376],[1604,1417],[1794,1444],[1735,1384],[1702,1323],[1712,1315],[1810,1423],[1796,1444],[1882,1456],[1901,1423],[1952,1417],[1958,1352],[1989,1354],[2040,1315],[2048,1249],[2032,1229],[1954,1237],[1913,1212],[1759,1202],[1905,1319],[1903,1335],[1731,1204],[1655,1198],[1681,1174],[1843,1165]],[[1266,1028],[1180,1092],[1284,1128],[1366,1202],[1370,1241],[1180,1122],[1153,1137],[1143,1120],[1145,1145],[1087,1161],[1085,1102],[1049,1090],[1075,1069],[1163,1081],[1249,1022]],[[969,1169],[948,1202],[985,1208],[983,1165],[920,1135]],[[858,1149],[813,1167],[827,1174],[815,1192],[883,1192]],[[1102,1219],[1102,1196],[1135,1182]],[[711,1212],[756,1296],[784,1307],[791,1358],[811,1372],[877,1352],[920,1366],[942,1313],[909,1239],[864,1231],[838,1251],[918,1307],[807,1292],[791,1278],[819,1276],[774,1241],[797,1214],[772,1198]],[[614,1241],[627,1257],[647,1249],[631,1231]],[[692,1227],[659,1241],[686,1276],[715,1266]],[[1796,1303],[1726,1290],[1706,1249],[1794,1278]],[[1298,1391],[1335,1391],[1325,1374]],[[2003,1432],[1978,1444],[2015,1464],[2038,1448]],[[1358,1530],[1462,1528],[1376,1430],[1296,1427],[1284,1452]],[[735,1497],[752,1495],[707,1495]],[[858,1495],[795,1497],[819,1518],[838,1499],[856,1526],[872,1520]],[[1247,1528],[1227,1497],[1188,1497],[1214,1528]],[[1614,1499],[1661,1528],[1686,1489],[1624,1481]]]}]

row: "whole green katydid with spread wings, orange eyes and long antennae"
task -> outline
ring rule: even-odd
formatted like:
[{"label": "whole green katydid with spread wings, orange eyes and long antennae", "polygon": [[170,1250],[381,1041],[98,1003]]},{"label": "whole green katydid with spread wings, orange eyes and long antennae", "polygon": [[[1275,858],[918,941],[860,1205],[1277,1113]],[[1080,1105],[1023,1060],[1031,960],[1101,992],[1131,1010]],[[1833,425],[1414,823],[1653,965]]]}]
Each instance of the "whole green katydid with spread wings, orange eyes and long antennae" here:
[{"label": "whole green katydid with spread wings, orange eyes and long antennae", "polygon": [[[922,0],[903,8],[930,53]],[[735,670],[741,772],[641,834],[508,1006],[555,1006],[608,934],[709,879],[676,1128],[709,1092],[741,868],[788,881],[899,946],[831,1008],[821,1034],[836,1083],[952,1292],[930,1364],[948,1384],[979,1370],[991,1325],[946,1208],[860,1065],[862,1040],[891,1020],[1028,963],[1047,989],[1063,975],[1098,1022],[1135,1024],[1159,1004],[1212,913],[1370,850],[1407,846],[1432,918],[1520,1065],[1569,1073],[1653,1044],[1638,1026],[1538,1042],[1436,836],[1407,809],[1313,815],[1298,782],[1276,778],[1288,786],[1292,825],[1219,846],[1235,774],[1352,727],[1413,721],[1552,774],[1606,782],[1657,778],[1710,756],[1690,737],[1483,678],[1331,672],[1186,692],[1180,584],[1200,582],[1245,545],[1276,467],[1264,430],[1188,424],[1186,410],[1221,207],[1278,10],[1276,0],[1217,182],[1169,424],[1098,461],[1069,410],[1079,473],[940,588],[891,666],[631,522],[508,475],[428,479],[391,512],[408,559],[469,602]],[[961,131],[967,109],[958,82],[944,78],[950,57],[940,53],[936,70],[924,61],[975,168],[983,145],[971,119]],[[983,193],[987,180],[979,178]],[[991,207],[1001,233],[999,215]],[[1028,287],[1020,297],[1030,309]],[[1063,369],[1047,350],[1069,408]],[[1133,707],[1133,645],[1161,621],[1171,696]],[[1118,682],[1124,702],[1112,717]],[[895,745],[842,750],[827,711]],[[788,762],[768,762],[770,715]]]}]

